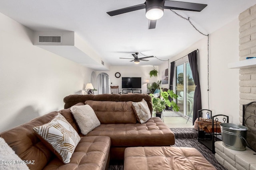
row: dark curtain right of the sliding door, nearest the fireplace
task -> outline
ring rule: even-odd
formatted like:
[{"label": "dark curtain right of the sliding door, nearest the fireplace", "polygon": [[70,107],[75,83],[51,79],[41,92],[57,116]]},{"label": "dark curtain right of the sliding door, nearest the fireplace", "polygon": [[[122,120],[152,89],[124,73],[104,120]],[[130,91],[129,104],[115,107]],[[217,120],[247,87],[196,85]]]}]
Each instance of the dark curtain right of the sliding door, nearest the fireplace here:
[{"label": "dark curtain right of the sliding door, nearest the fireplace", "polygon": [[194,105],[193,105],[193,125],[197,118],[198,110],[202,109],[201,102],[201,88],[198,74],[198,66],[197,66],[197,52],[196,50],[192,53],[188,54],[188,61],[190,64],[190,68],[192,70],[192,76],[196,85],[195,93],[194,93]]}]

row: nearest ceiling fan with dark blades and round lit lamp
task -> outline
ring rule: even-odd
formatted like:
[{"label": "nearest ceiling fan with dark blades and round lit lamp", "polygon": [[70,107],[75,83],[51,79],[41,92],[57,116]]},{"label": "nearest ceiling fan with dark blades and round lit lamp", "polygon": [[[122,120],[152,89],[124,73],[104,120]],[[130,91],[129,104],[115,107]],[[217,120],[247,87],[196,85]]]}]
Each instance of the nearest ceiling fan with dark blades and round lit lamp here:
[{"label": "nearest ceiling fan with dark blades and round lit lamp", "polygon": [[164,15],[164,9],[169,10],[186,10],[186,11],[202,11],[207,4],[197,4],[191,2],[180,2],[172,0],[146,0],[144,4],[130,6],[114,11],[107,12],[110,16],[124,14],[146,8],[146,18],[148,18],[148,29],[156,28],[156,20]]}]

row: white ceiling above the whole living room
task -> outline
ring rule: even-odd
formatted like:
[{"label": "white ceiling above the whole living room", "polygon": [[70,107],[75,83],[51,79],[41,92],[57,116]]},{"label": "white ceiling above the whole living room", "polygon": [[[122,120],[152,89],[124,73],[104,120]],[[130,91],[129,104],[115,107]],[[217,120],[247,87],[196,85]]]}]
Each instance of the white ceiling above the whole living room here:
[{"label": "white ceiling above the whole living room", "polygon": [[[182,0],[180,0],[182,1]],[[183,0],[208,4],[201,12],[175,10],[210,34],[238,18],[255,0]],[[164,10],[156,29],[148,29],[145,9],[109,16],[106,12],[143,4],[145,0],[0,0],[0,12],[34,31],[74,31],[112,66],[132,66],[132,53],[166,60],[204,38],[188,21]],[[138,55],[138,57],[144,57]],[[156,58],[142,65],[160,65]]]}]

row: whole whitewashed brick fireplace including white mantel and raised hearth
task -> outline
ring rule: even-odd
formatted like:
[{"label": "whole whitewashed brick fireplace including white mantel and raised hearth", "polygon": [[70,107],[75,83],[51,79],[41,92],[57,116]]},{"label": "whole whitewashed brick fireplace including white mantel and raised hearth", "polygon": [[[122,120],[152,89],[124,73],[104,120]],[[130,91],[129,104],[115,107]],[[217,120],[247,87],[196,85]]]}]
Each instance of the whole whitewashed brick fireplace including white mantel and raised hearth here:
[{"label": "whole whitewashed brick fireplace including white mantel and raised hearth", "polygon": [[[239,121],[242,125],[242,105],[256,101],[256,59],[246,59],[256,57],[256,5],[239,15],[239,25],[240,61],[230,68],[239,68]],[[245,151],[231,150],[224,147],[222,141],[218,141],[215,143],[215,151],[215,158],[228,170],[256,170],[256,152],[247,147]]]}]

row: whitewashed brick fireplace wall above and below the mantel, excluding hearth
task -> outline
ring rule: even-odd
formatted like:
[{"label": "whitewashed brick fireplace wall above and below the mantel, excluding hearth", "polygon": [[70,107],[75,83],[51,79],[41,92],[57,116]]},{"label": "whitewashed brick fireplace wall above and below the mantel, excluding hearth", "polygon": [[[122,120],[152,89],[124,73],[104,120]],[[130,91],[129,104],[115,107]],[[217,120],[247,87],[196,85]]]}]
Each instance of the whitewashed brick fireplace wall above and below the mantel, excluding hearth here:
[{"label": "whitewashed brick fireplace wall above and below the mantel, excluding hearth", "polygon": [[[256,5],[239,15],[239,56],[240,61],[246,57],[256,57]],[[242,124],[242,104],[256,101],[256,65],[239,70],[240,123]]]}]

